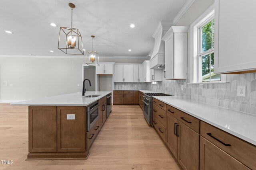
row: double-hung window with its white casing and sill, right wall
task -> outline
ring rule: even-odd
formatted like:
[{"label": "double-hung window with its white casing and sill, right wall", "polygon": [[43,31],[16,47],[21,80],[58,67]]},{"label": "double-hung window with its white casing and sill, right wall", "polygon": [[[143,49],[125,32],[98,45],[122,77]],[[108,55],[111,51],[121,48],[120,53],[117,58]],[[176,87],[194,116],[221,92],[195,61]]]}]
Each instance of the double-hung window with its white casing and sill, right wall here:
[{"label": "double-hung window with its white casing and sill, right wall", "polygon": [[214,5],[190,25],[190,83],[226,83],[225,74],[214,74]]}]

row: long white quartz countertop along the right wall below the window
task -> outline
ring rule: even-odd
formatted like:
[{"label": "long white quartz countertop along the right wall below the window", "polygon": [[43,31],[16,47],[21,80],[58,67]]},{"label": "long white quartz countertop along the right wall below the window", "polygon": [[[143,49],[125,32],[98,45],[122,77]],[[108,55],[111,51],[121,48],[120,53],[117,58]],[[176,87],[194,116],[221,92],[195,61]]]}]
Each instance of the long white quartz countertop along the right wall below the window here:
[{"label": "long white quartz countertop along the right wall below the window", "polygon": [[256,145],[256,115],[176,96],[154,96],[154,98]]}]

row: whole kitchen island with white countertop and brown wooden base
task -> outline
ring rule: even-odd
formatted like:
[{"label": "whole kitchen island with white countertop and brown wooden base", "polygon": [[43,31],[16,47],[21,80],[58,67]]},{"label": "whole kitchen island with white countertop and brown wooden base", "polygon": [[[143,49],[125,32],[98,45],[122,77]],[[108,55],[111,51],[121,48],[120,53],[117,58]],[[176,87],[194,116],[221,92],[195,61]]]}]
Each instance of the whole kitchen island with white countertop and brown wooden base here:
[{"label": "whole kitchen island with white countertop and brown wooden base", "polygon": [[[29,106],[27,160],[87,159],[106,121],[106,96],[110,93],[86,92],[82,96],[77,92],[12,103]],[[92,114],[87,119],[89,110]]]}]

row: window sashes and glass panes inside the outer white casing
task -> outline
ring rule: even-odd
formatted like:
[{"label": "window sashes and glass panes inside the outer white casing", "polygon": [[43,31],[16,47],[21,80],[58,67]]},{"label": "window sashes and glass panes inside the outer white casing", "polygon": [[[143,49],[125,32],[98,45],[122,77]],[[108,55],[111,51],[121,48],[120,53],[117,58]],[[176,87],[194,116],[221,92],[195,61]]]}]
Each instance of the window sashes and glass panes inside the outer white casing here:
[{"label": "window sashes and glass panes inside the outer white casing", "polygon": [[199,33],[199,81],[220,81],[220,74],[214,74],[214,18],[210,18],[198,27]]}]

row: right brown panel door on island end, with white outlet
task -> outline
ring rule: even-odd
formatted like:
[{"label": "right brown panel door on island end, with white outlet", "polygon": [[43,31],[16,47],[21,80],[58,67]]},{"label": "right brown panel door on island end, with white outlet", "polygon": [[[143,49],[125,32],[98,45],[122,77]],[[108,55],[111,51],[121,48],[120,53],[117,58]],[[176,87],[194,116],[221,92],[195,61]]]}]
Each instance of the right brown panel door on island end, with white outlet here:
[{"label": "right brown panel door on island end, with white outlet", "polygon": [[85,120],[84,106],[57,107],[58,152],[85,152]]}]

